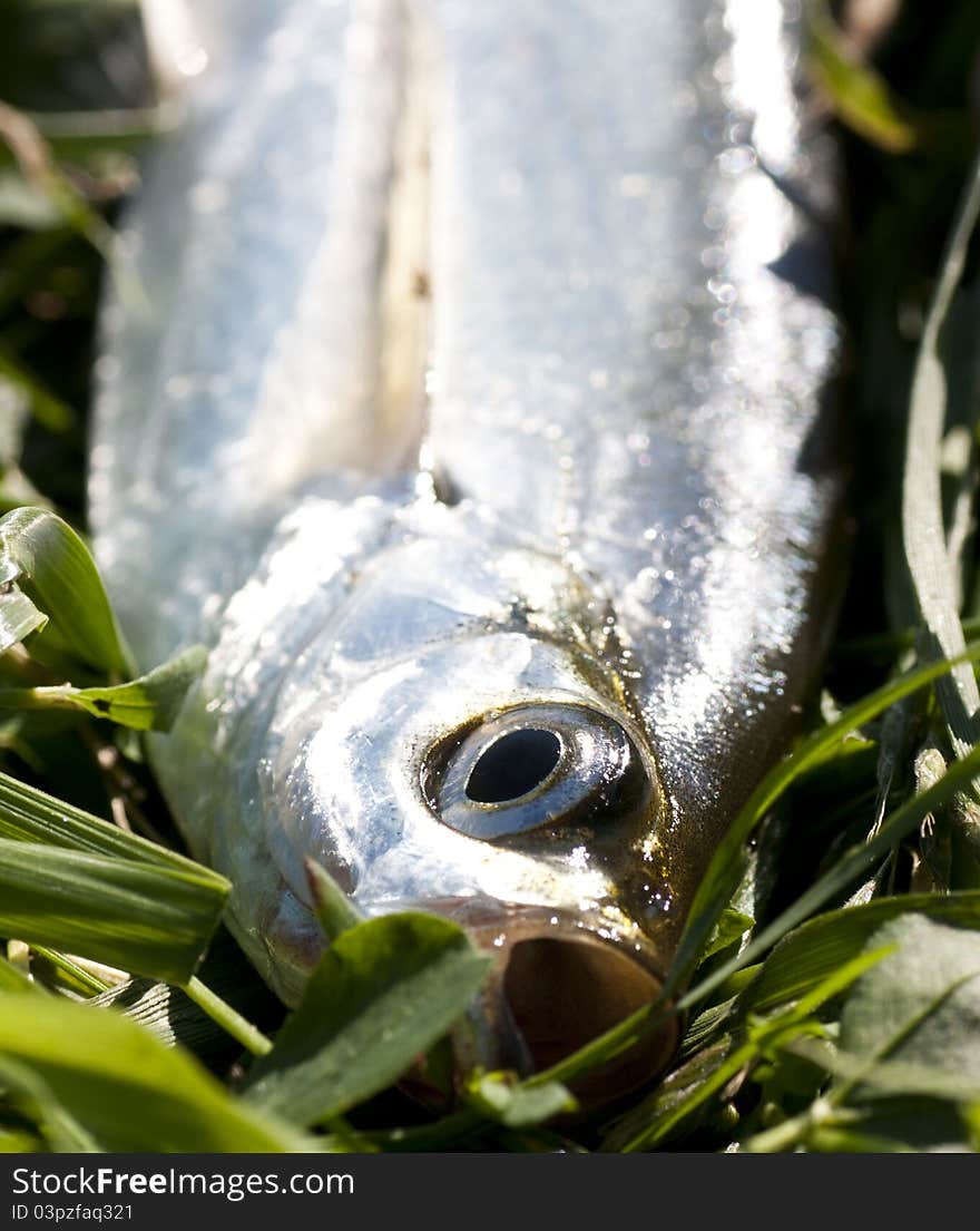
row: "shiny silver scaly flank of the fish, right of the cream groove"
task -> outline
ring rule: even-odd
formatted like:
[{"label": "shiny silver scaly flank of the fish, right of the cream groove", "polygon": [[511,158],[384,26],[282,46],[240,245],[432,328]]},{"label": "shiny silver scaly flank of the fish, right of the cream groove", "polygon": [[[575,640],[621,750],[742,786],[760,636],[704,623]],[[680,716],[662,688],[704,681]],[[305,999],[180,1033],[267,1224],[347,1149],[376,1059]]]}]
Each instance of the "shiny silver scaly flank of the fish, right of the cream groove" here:
[{"label": "shiny silver scaly flank of the fish, right of the cream groove", "polygon": [[431,449],[607,585],[682,900],[824,632],[832,153],[794,94],[794,9],[529,6],[513,30],[438,6]]}]

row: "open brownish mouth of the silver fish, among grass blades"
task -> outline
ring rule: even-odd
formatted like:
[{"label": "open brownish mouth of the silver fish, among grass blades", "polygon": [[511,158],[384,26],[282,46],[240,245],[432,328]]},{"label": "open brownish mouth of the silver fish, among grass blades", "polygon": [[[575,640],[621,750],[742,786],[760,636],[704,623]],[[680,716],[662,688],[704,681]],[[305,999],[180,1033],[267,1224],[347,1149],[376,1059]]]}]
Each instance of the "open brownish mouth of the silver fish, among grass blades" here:
[{"label": "open brownish mouth of the silver fish, among grass blades", "polygon": [[[661,995],[664,980],[649,944],[611,939],[570,912],[485,899],[424,908],[459,923],[492,959],[467,1028],[457,1032],[460,1067],[540,1073]],[[566,1085],[580,1108],[613,1103],[661,1073],[678,1041],[680,1022],[671,1014]]]}]

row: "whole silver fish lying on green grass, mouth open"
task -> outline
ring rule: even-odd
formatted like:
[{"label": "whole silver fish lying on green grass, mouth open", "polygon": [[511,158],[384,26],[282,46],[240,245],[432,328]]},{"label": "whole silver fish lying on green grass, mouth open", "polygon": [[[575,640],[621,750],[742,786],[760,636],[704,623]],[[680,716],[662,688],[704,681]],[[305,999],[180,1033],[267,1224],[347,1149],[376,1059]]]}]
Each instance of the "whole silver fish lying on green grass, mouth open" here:
[{"label": "whole silver fish lying on green grass, mouth open", "polygon": [[311,859],[467,928],[480,1045],[548,1067],[657,997],[787,747],[843,490],[799,7],[195,5],[90,519],[135,661],[209,648],[149,753],[287,1003]]}]

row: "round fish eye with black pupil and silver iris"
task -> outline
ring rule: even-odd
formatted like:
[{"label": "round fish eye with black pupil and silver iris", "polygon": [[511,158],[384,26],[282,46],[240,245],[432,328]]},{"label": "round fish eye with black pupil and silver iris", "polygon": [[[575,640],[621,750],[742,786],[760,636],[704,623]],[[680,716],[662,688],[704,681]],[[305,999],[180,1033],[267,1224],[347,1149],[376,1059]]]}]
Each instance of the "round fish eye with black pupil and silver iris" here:
[{"label": "round fish eye with black pupil and silver iris", "polygon": [[422,793],[436,817],[488,842],[613,820],[635,811],[650,790],[623,726],[575,704],[486,714],[435,745],[422,769]]}]

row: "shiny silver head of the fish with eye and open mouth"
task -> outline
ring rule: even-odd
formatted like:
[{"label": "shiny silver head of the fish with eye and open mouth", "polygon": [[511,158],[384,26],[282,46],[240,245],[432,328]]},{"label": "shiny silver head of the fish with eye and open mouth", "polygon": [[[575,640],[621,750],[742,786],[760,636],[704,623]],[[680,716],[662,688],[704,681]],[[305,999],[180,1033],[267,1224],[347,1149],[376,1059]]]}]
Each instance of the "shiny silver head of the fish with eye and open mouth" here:
[{"label": "shiny silver head of the fish with eye and open mouth", "polygon": [[473,531],[373,558],[295,664],[263,761],[268,846],[300,900],[311,858],[368,913],[464,926],[494,958],[480,1059],[536,1070],[659,993],[665,795],[604,596]]}]

